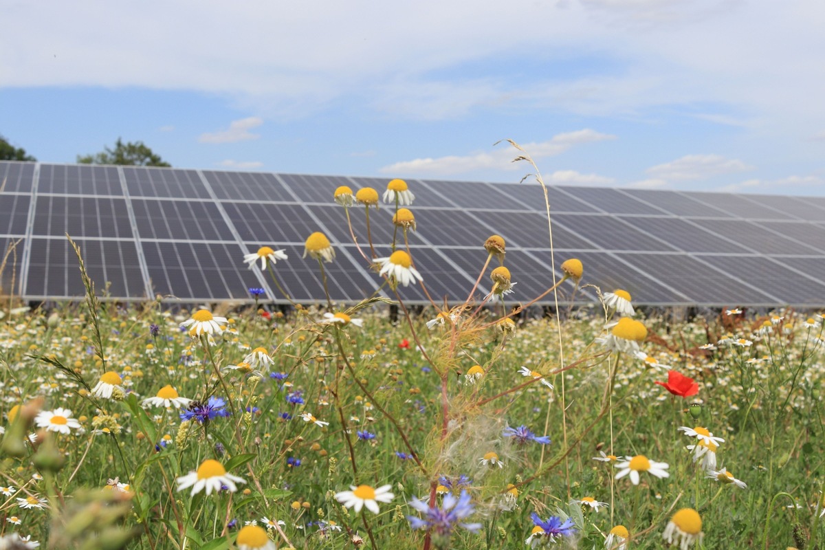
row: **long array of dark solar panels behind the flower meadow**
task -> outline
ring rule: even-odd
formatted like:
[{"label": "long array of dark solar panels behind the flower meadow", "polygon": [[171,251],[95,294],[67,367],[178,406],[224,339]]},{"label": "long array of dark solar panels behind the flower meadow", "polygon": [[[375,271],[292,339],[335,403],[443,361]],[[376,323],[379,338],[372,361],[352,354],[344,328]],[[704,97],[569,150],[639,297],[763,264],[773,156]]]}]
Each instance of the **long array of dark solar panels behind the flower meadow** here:
[{"label": "long array of dark solar panels behind the flower meadow", "polygon": [[[321,301],[318,263],[301,257],[314,231],[326,233],[337,250],[325,266],[332,299],[356,302],[381,284],[332,192],[346,185],[383,193],[384,179],[0,162],[0,181],[0,250],[13,249],[0,284],[27,301],[82,297],[66,233],[105,299],[161,294],[186,303],[241,302],[251,301],[248,289],[262,288],[285,302],[268,274],[243,264],[244,254],[271,246],[290,256],[276,265],[290,297]],[[553,262],[559,277],[561,262],[575,256],[585,266],[582,284],[626,289],[637,304],[825,305],[825,198],[553,186],[551,256],[540,186],[408,185],[418,226],[409,246],[436,302],[466,298],[487,257],[483,242],[498,233],[517,283],[507,297],[513,301],[544,292]],[[370,211],[379,256],[389,252],[393,210]],[[350,214],[369,255],[364,209]],[[484,276],[479,295],[489,290]],[[560,302],[596,299],[591,287],[572,291],[565,283]],[[380,294],[394,297],[386,287]],[[429,303],[421,285],[400,294],[408,303]]]}]

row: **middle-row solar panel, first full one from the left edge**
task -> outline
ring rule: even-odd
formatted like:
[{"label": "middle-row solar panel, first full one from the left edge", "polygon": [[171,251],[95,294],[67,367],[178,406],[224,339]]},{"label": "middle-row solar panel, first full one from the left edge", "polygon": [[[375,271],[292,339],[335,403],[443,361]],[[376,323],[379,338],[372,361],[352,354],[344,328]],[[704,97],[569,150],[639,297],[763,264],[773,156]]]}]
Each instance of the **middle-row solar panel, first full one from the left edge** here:
[{"label": "middle-row solar panel, first full one from the left edge", "polygon": [[114,197],[37,195],[34,235],[131,238],[126,201]]}]

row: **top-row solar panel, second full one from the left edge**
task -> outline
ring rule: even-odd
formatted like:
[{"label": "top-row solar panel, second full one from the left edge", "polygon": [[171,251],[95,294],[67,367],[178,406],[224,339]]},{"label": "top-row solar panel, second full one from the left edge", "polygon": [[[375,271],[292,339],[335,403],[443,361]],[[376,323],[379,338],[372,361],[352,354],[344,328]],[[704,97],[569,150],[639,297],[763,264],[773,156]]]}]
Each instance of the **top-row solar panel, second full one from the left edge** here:
[{"label": "top-row solar panel, second full one from the left edge", "polygon": [[211,199],[194,170],[123,167],[123,175],[132,197]]}]

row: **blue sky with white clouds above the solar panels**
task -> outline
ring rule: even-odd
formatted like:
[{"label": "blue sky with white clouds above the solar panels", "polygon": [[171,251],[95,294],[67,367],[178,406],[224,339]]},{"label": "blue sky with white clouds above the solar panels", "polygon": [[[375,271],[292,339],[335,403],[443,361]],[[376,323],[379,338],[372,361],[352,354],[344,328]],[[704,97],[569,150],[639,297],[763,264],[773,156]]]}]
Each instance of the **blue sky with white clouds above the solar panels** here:
[{"label": "blue sky with white clouds above the solar panels", "polygon": [[[175,167],[825,195],[822,0],[3,0],[0,134]],[[502,140],[505,140],[502,142]]]}]

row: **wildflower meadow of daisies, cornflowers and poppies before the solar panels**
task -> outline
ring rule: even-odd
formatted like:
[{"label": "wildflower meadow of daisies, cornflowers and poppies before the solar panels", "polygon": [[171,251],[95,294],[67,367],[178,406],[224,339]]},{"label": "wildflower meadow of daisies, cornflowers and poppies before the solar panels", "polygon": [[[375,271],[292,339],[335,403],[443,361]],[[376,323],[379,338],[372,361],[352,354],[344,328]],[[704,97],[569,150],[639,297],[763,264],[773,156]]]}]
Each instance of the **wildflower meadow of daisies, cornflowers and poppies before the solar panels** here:
[{"label": "wildflower meadow of daisies, cornflowers and poppies before the solar panels", "polygon": [[[127,307],[85,275],[82,303],[3,303],[0,548],[823,548],[822,316],[677,322],[596,288],[530,317],[598,281],[571,254],[521,296],[497,235],[491,294],[413,313],[415,194],[330,190],[350,228],[394,211],[392,242],[351,231],[360,303]],[[238,262],[291,301],[278,270],[301,254],[328,297],[323,233]]]}]

